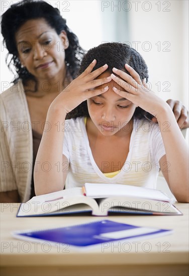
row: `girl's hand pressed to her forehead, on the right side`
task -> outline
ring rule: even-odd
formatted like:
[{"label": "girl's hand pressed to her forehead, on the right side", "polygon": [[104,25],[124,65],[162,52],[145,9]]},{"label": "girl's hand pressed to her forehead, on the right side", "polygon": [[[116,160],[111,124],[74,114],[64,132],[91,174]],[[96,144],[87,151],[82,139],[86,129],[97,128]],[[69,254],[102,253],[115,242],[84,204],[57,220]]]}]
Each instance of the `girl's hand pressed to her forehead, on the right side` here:
[{"label": "girl's hand pressed to her forehead, on the right side", "polygon": [[145,82],[142,82],[139,74],[128,64],[125,64],[127,74],[122,70],[113,68],[113,72],[119,77],[111,74],[112,79],[117,82],[123,90],[113,87],[114,92],[130,100],[136,106],[140,106],[150,114],[157,116],[161,112],[161,107],[166,103],[148,89]]}]

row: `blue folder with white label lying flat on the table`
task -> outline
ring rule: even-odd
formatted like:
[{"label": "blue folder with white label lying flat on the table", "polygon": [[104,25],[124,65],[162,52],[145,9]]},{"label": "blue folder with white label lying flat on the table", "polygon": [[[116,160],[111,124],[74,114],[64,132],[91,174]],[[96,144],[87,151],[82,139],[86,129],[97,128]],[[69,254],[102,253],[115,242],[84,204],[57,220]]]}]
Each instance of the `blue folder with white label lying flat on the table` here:
[{"label": "blue folder with white label lying flat on the table", "polygon": [[126,240],[169,234],[171,230],[140,227],[111,220],[101,220],[73,226],[36,230],[16,231],[17,238],[66,243],[73,246],[88,246],[116,240]]}]

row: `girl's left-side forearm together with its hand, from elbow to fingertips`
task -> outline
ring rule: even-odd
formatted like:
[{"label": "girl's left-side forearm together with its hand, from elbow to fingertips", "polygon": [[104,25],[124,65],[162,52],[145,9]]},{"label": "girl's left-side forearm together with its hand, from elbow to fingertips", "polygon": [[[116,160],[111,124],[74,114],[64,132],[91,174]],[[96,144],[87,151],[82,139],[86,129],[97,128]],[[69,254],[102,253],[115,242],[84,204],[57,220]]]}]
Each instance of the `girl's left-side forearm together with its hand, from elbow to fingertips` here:
[{"label": "girl's left-side forearm together with its hand, from elbow to fingertips", "polygon": [[[105,64],[93,70],[97,60],[93,60],[84,72],[74,79],[51,103],[47,113],[49,131],[44,131],[36,158],[34,172],[35,192],[37,195],[55,192],[63,189],[64,175],[62,172],[62,149],[64,139],[64,122],[68,112],[77,107],[81,102],[95,95],[108,91],[98,87],[102,83],[112,81],[112,78],[98,78],[108,68]],[[60,129],[58,129],[60,126]],[[44,164],[48,166],[44,170]]]}]

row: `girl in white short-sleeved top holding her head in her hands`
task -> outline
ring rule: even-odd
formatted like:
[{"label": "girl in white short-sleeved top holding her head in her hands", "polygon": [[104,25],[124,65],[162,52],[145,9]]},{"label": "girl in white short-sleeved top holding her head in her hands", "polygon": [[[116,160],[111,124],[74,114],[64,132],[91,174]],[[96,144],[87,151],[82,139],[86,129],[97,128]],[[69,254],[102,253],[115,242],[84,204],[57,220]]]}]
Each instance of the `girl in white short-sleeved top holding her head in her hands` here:
[{"label": "girl in white short-sleeved top holding her head in her hands", "polygon": [[[188,202],[187,146],[171,108],[147,89],[140,54],[125,44],[102,44],[88,51],[80,73],[49,107],[36,194],[85,182],[155,188],[160,167],[177,201]],[[67,114],[72,119],[65,121]]]}]

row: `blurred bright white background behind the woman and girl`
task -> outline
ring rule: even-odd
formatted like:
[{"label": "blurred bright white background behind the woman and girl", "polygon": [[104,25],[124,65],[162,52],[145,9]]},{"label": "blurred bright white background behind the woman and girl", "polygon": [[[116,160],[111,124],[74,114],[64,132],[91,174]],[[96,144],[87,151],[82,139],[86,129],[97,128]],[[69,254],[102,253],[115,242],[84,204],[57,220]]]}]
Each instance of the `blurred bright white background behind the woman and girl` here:
[{"label": "blurred bright white background behind the woman and girl", "polygon": [[[2,0],[1,15],[16,2]],[[148,65],[151,89],[188,108],[188,0],[46,2],[60,10],[85,50],[105,42],[136,49]],[[1,92],[14,79],[6,55],[1,36]]]}]

